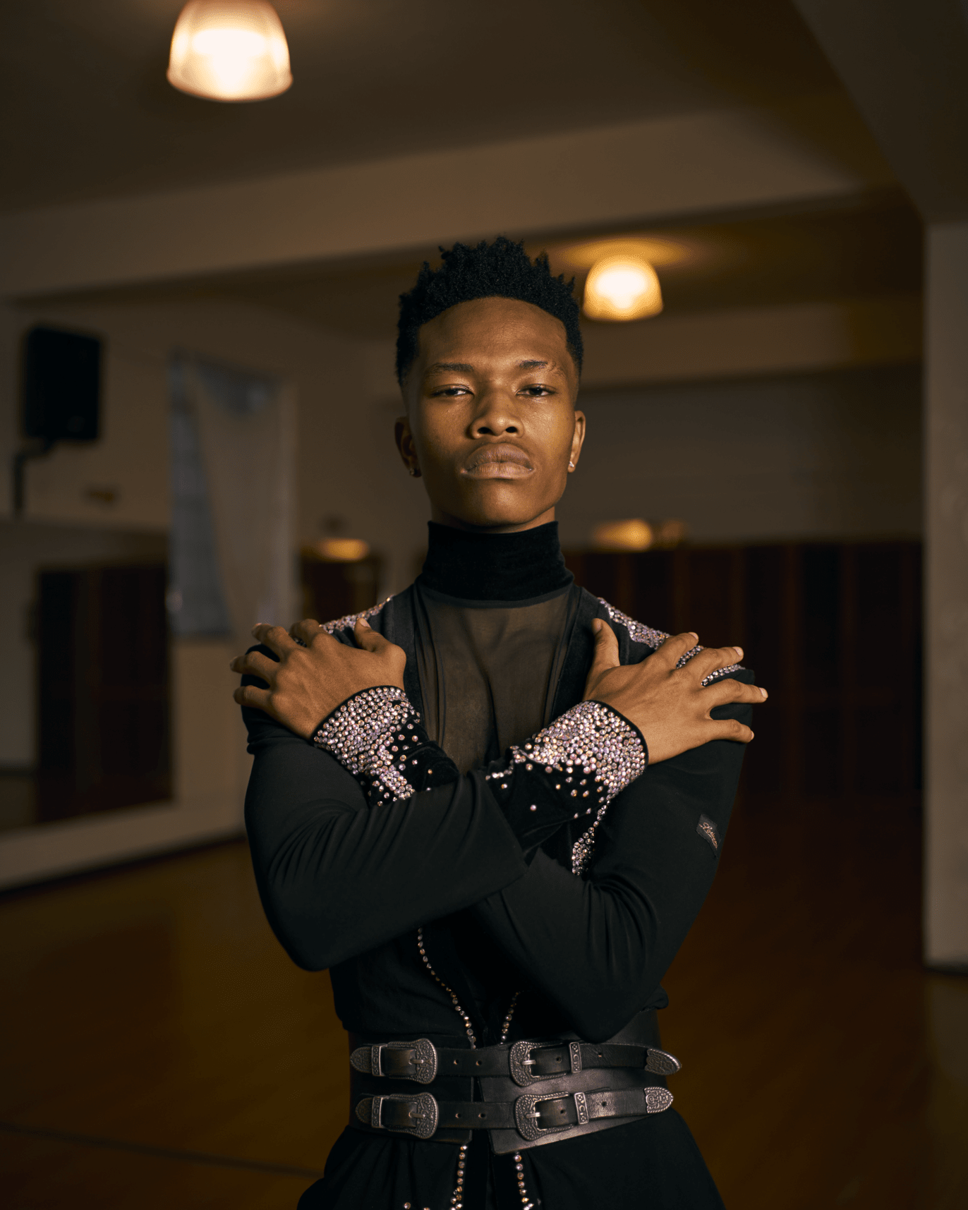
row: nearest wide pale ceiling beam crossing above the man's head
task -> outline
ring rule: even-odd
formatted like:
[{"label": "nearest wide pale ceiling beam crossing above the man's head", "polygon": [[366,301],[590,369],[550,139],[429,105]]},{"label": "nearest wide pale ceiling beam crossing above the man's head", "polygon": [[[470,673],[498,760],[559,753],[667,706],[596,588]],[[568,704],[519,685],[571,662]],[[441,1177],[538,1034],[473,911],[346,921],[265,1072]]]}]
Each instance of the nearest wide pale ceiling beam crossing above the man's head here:
[{"label": "nearest wide pale ceiling beam crossing above the man's head", "polygon": [[785,117],[715,111],[7,214],[0,289],[29,298],[161,282],[823,201],[892,183],[839,98],[813,98]]}]

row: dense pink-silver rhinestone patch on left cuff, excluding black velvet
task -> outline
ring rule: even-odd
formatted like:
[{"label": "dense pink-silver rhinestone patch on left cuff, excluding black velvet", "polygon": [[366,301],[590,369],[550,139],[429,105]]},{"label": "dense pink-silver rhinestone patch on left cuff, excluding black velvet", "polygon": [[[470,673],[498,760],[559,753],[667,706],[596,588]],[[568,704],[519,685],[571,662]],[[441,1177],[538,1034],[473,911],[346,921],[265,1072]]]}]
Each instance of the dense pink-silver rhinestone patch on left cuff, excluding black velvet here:
[{"label": "dense pink-silver rhinestone patch on left cuff, excluding black velvet", "polygon": [[402,688],[378,685],[338,705],[312,742],[332,753],[353,777],[371,783],[378,799],[396,801],[414,794],[402,768],[419,724],[420,715]]}]

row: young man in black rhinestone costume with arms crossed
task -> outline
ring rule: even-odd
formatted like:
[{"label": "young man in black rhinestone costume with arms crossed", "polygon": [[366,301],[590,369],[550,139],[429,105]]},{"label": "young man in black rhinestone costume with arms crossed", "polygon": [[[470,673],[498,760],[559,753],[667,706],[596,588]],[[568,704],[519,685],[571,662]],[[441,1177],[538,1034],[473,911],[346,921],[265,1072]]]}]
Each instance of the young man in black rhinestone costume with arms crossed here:
[{"label": "young man in black rhinestone costume with arms crossed", "polygon": [[655,1016],[765,691],[565,570],[582,348],[546,258],[457,244],[397,348],[421,575],[259,626],[232,666],[266,915],[350,1032],[350,1123],[300,1210],[711,1210]]}]

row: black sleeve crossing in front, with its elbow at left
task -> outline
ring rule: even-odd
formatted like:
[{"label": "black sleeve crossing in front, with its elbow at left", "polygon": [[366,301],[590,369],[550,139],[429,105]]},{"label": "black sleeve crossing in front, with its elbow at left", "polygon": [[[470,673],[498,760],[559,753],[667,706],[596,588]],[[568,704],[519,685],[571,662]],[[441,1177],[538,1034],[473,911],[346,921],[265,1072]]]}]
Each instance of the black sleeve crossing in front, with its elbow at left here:
[{"label": "black sleeve crossing in front, with its elbow at left", "polygon": [[520,878],[522,843],[484,774],[369,806],[338,761],[260,710],[246,826],[259,893],[299,966],[323,969]]}]

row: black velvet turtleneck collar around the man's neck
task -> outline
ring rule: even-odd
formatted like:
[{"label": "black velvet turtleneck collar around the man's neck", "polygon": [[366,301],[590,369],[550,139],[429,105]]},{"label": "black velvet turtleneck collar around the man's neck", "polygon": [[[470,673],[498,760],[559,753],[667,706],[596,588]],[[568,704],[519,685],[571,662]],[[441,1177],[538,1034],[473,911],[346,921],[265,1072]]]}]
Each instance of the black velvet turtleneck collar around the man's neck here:
[{"label": "black velvet turtleneck collar around the man's neck", "polygon": [[466,601],[552,597],[574,576],[558,544],[558,522],[518,534],[469,534],[430,522],[421,588]]}]

